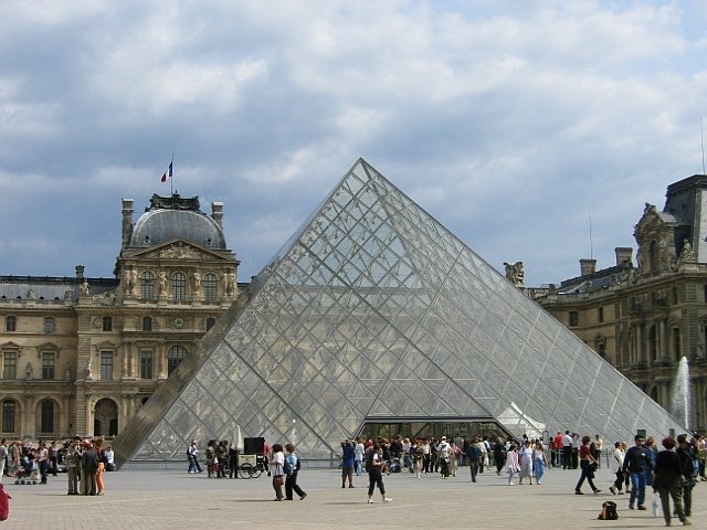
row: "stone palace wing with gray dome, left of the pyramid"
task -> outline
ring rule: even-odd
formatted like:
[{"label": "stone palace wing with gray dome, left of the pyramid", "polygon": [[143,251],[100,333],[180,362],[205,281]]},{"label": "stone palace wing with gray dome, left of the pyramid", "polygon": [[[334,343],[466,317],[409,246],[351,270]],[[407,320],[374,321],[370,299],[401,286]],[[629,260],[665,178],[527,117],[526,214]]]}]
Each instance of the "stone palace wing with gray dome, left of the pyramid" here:
[{"label": "stone palace wing with gray dome, left of the pyramid", "polygon": [[115,278],[0,276],[0,435],[113,436],[239,296],[223,205],[123,201]]}]

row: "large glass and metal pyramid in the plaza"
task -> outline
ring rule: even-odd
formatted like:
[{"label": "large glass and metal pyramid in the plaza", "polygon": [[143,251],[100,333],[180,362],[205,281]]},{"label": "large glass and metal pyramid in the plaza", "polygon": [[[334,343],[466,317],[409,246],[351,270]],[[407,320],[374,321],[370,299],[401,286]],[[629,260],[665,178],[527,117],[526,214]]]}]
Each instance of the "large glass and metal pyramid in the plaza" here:
[{"label": "large glass and metal pyramid in the plaza", "polygon": [[245,298],[116,439],[120,460],[183,460],[236,426],[312,459],[367,420],[684,430],[365,160]]}]

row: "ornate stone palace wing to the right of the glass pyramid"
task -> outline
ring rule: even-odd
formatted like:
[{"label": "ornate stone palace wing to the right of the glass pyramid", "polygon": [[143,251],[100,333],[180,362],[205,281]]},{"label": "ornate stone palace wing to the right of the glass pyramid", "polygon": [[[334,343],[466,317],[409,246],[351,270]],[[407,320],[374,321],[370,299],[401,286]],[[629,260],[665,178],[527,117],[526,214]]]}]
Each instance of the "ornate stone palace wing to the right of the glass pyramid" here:
[{"label": "ornate stone palace wing to the right of the glass pyramid", "polygon": [[707,177],[671,184],[663,211],[646,204],[632,250],[597,271],[581,259],[581,275],[529,288],[527,294],[609,360],[678,420],[673,391],[678,364],[689,365],[690,428],[707,425]]}]

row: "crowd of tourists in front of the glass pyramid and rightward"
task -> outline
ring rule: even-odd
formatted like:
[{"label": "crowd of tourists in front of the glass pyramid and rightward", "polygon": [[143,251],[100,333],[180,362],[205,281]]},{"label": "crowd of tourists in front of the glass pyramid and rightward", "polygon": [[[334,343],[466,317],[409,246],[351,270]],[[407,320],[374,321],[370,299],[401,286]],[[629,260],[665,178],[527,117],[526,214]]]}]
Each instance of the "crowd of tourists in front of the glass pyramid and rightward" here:
[{"label": "crowd of tourists in front of the glass pyramid and rightward", "polygon": [[[345,439],[340,443],[341,488],[355,488],[355,477],[368,475],[368,502],[374,502],[376,489],[383,502],[390,502],[383,477],[408,471],[416,478],[436,475],[446,480],[456,477],[461,467],[468,467],[471,481],[476,483],[485,471],[497,476],[505,474],[513,486],[541,485],[548,467],[579,469],[576,495],[583,495],[588,484],[593,494],[601,492],[594,483],[594,473],[602,467],[602,459],[613,475],[609,492],[627,494],[629,509],[646,510],[646,487],[655,491],[654,512],[662,510],[666,524],[675,515],[689,524],[692,490],[698,481],[706,481],[705,460],[707,445],[704,436],[680,434],[666,437],[659,445],[653,437],[636,435],[631,447],[624,442],[604,445],[597,434],[580,436],[566,431],[558,432],[546,446],[541,439],[523,436],[520,439],[489,439],[487,436],[467,436],[452,439],[408,438]],[[201,473],[196,441],[188,448],[189,473]],[[304,499],[307,494],[297,484],[300,459],[293,444],[265,446],[265,466],[272,477],[276,501],[293,500],[296,494]],[[211,441],[205,449],[207,470],[210,477],[233,477],[238,467],[238,451],[225,441]],[[525,483],[524,483],[525,480]],[[284,491],[283,491],[284,488]],[[671,509],[669,502],[673,501]]]}]

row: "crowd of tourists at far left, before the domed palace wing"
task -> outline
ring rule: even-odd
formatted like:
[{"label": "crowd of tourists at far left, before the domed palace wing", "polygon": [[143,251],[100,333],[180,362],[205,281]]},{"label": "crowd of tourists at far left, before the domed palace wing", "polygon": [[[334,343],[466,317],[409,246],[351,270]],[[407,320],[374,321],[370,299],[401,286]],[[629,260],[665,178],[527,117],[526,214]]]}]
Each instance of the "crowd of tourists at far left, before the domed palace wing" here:
[{"label": "crowd of tourists at far left, before the domed palace wing", "polygon": [[[104,495],[104,471],[115,470],[113,447],[103,438],[81,438],[64,442],[8,442],[0,439],[0,481],[2,477],[15,484],[49,483],[49,476],[66,471],[66,495]],[[81,488],[78,487],[81,484]]]}]

